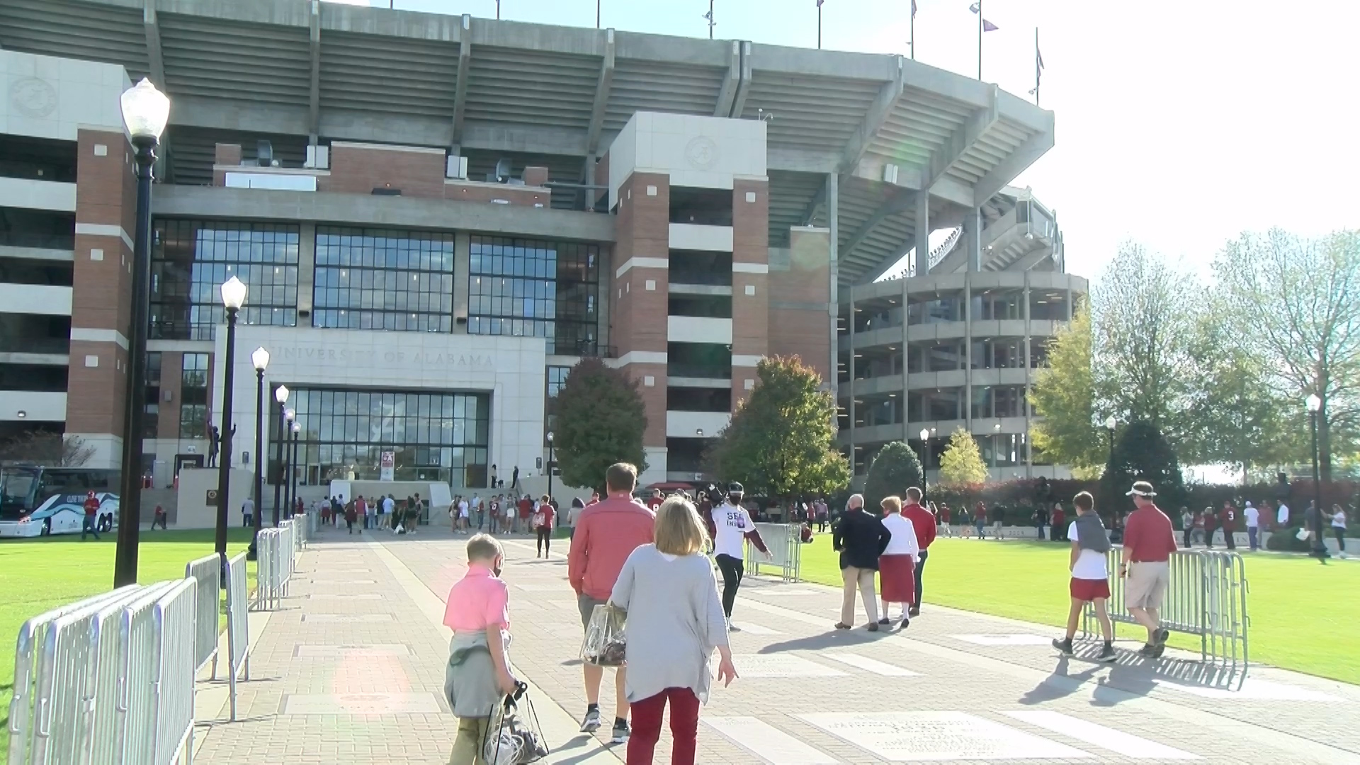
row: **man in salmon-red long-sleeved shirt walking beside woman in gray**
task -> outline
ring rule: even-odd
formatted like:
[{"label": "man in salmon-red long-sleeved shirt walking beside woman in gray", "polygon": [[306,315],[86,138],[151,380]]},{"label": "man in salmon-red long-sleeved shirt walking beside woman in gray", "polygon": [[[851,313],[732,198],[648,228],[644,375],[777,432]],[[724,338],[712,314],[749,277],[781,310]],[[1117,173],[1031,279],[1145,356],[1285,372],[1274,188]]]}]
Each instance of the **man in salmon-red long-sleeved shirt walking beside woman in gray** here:
[{"label": "man in salmon-red long-sleeved shirt walking beside woman in gray", "polygon": [[[609,497],[581,510],[571,538],[571,553],[567,555],[567,579],[577,591],[582,628],[589,626],[594,607],[609,600],[628,555],[656,539],[657,513],[632,498],[632,490],[638,486],[638,468],[628,463],[612,464],[604,474],[604,482]],[[586,716],[581,721],[581,732],[592,732],[600,727],[601,679],[604,667],[585,664]],[[624,667],[619,667],[615,677],[615,743],[628,740],[624,679]]]}]

